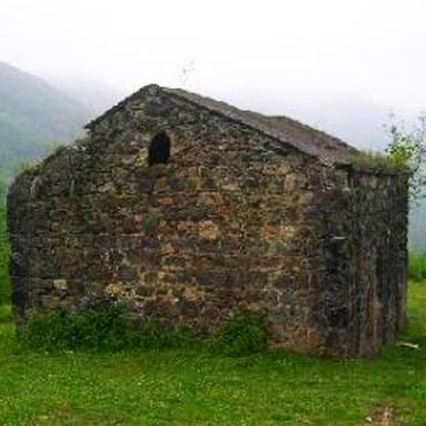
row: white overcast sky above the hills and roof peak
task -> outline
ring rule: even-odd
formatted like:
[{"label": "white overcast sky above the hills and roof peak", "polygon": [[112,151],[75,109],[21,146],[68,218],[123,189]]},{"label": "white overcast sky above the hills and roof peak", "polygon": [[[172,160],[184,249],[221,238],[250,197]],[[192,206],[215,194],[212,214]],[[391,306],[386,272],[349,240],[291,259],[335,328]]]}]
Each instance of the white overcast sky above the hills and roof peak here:
[{"label": "white overcast sky above the hills and roof peak", "polygon": [[426,1],[0,0],[0,60],[126,92],[157,82],[262,105],[349,93],[420,111]]}]

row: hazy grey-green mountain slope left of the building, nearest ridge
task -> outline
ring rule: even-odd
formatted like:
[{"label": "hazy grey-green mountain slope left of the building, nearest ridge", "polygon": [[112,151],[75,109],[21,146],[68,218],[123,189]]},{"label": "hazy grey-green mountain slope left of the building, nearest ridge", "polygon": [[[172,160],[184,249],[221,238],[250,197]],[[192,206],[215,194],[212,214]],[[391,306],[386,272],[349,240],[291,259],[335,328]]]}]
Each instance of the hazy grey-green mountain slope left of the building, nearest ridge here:
[{"label": "hazy grey-green mountain slope left of the building, nearest ridge", "polygon": [[6,178],[53,143],[82,136],[82,126],[91,118],[86,107],[58,89],[0,62],[0,170]]}]

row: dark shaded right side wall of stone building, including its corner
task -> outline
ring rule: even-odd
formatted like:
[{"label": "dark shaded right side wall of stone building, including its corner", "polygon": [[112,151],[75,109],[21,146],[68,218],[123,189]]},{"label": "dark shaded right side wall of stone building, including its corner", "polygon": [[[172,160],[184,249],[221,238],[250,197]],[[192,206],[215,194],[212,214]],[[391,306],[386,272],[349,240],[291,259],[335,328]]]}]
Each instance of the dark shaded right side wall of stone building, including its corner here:
[{"label": "dark shaded right side wall of stone building, including its corner", "polygon": [[322,211],[324,346],[342,356],[371,356],[405,324],[406,177],[336,171]]}]

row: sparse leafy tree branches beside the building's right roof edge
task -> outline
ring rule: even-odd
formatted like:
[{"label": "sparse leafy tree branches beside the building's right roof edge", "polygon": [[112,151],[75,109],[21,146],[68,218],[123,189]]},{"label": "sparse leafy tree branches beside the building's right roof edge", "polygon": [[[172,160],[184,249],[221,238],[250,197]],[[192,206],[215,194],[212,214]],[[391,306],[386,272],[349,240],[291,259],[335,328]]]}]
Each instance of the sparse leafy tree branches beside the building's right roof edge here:
[{"label": "sparse leafy tree branches beside the building's right roof edge", "polygon": [[426,113],[420,114],[412,129],[393,123],[387,129],[391,139],[386,148],[388,158],[403,165],[409,172],[410,199],[416,202],[425,196],[426,187]]}]

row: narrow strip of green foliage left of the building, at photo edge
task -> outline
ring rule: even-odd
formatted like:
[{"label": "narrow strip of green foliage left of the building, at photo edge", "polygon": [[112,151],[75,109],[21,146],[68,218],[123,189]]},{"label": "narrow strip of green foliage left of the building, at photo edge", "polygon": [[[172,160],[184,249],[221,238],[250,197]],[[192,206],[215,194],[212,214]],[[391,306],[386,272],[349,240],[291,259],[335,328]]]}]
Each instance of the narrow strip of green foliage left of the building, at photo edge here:
[{"label": "narrow strip of green foliage left of the building, at photo edge", "polygon": [[0,180],[0,306],[9,302],[9,240],[6,226],[6,185]]}]

